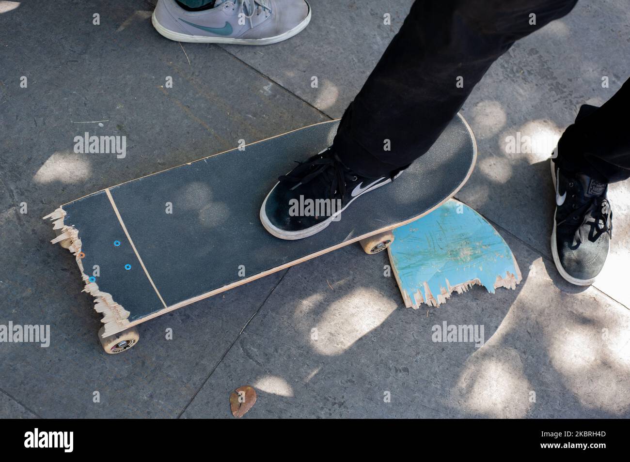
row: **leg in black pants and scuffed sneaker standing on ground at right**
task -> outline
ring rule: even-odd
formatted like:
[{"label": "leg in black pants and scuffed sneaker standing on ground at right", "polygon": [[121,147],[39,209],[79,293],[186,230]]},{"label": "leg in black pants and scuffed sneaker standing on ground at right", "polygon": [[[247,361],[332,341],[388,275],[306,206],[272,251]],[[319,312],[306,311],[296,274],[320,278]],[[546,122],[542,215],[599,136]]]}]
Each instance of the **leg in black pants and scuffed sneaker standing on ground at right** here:
[{"label": "leg in black pants and scuffed sneaker standing on ground at right", "polygon": [[608,256],[608,184],[630,177],[629,103],[630,79],[600,108],[581,106],[551,159],[556,188],[551,254],[558,272],[576,285],[592,284]]}]

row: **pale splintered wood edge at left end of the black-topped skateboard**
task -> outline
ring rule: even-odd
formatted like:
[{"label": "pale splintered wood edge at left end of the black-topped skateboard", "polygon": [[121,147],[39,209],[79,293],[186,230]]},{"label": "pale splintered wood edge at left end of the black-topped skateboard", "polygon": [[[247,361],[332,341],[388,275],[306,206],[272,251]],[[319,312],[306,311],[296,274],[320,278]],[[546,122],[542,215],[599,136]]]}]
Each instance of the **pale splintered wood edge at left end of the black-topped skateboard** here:
[{"label": "pale splintered wood edge at left end of the black-topped skateboard", "polygon": [[129,326],[130,313],[125,310],[122,305],[116,303],[113,300],[111,294],[99,290],[96,283],[92,283],[89,281],[89,276],[85,274],[83,270],[83,261],[81,261],[80,256],[81,239],[79,239],[79,230],[77,230],[74,226],[66,225],[64,223],[65,217],[66,211],[63,210],[62,207],[57,208],[57,210],[55,210],[54,212],[43,217],[43,220],[52,221],[52,228],[54,230],[60,230],[60,234],[50,242],[52,244],[57,244],[62,240],[70,240],[71,244],[68,247],[68,250],[74,255],[74,259],[77,262],[79,271],[81,271],[81,279],[83,279],[83,283],[85,285],[83,291],[89,293],[91,296],[94,297],[94,309],[96,310],[96,312],[103,315],[103,318],[101,319],[103,327],[105,328],[103,330],[103,337],[117,334],[118,332],[126,329]]}]

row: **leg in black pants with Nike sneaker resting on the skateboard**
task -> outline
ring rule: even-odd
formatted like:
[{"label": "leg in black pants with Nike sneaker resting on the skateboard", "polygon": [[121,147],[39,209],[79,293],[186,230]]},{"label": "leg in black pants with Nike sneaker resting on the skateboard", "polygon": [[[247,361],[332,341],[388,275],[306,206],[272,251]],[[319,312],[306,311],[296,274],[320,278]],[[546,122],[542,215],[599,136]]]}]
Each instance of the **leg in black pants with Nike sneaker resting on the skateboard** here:
[{"label": "leg in black pants with Nike sneaker resting on the skateboard", "polygon": [[[281,239],[308,237],[362,194],[391,182],[427,152],[515,40],[564,16],[576,1],[416,1],[345,112],[333,145],[280,177],[267,195],[263,226]],[[298,198],[340,201],[341,208],[326,218],[292,215]]]}]

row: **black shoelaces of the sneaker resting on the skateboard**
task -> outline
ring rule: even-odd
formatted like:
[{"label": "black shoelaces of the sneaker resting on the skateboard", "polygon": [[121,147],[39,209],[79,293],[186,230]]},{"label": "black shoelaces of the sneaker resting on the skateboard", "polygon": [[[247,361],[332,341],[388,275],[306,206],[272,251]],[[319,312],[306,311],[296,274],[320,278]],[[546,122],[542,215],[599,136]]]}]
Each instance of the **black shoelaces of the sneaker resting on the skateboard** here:
[{"label": "black shoelaces of the sneaker resting on the skateboard", "polygon": [[[296,161],[297,162],[297,161]],[[296,183],[291,188],[293,191],[302,184],[307,184],[320,175],[326,175],[326,179],[330,181],[329,198],[335,199],[336,194],[341,198],[346,193],[346,171],[336,154],[330,157],[318,157],[306,162],[297,162],[299,166],[295,167],[288,174],[278,177],[280,183],[289,182]]]}]

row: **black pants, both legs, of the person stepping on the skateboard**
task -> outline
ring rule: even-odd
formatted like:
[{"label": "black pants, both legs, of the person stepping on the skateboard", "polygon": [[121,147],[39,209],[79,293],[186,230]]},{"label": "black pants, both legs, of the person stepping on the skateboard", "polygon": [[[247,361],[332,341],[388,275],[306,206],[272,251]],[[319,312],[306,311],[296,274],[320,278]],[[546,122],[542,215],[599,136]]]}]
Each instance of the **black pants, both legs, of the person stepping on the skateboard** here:
[{"label": "black pants, both legs, of the person stepping on the skateboard", "polygon": [[[576,3],[416,0],[341,119],[334,142],[341,160],[367,177],[411,164],[427,152],[498,57]],[[559,142],[561,168],[606,183],[630,177],[630,130],[619,116],[628,103],[630,81],[601,108],[583,106]]]}]

